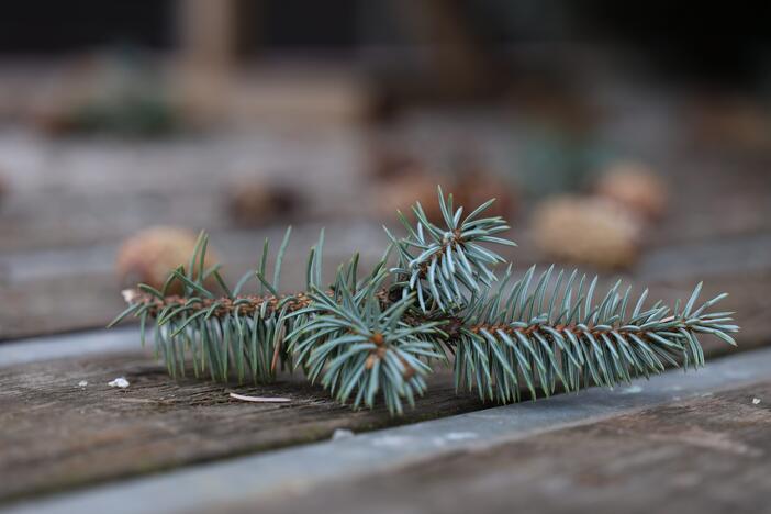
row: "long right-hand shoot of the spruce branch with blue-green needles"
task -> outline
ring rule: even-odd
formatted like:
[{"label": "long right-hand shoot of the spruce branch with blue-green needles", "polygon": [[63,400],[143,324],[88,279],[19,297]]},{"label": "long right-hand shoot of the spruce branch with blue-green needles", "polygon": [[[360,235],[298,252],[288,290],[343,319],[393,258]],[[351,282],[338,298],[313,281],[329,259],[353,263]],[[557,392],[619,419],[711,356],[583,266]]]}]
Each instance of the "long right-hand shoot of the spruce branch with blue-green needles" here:
[{"label": "long right-hand shoot of the spruce branch with blue-green needles", "polygon": [[[692,312],[701,284],[682,310],[661,302],[644,309],[646,291],[627,314],[632,289],[619,293],[621,282],[594,303],[596,277],[584,293],[585,276],[576,287],[573,271],[561,288],[560,271],[547,295],[554,267],[529,290],[534,270],[507,295],[500,290],[469,305],[457,340],[458,388],[477,389],[482,399],[502,403],[519,400],[525,388],[533,398],[536,389],[549,395],[558,386],[563,391],[592,384],[613,388],[660,373],[667,366],[703,366],[702,334],[736,345],[728,334],[739,327],[729,313],[707,312],[723,294]],[[556,311],[555,304],[560,305]]]}]

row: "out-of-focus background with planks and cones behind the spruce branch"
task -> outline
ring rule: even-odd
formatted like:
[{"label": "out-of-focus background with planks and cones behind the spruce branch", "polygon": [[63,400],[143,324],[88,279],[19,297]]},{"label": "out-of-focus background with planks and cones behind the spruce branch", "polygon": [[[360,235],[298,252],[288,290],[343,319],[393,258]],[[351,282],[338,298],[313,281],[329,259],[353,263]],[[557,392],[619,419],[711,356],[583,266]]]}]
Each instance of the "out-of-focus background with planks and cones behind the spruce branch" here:
[{"label": "out-of-focus background with planks and cones behind the spruce branch", "polygon": [[[103,326],[212,234],[299,288],[436,186],[515,265],[771,306],[771,5],[26,0],[0,16],[0,339]],[[712,291],[708,291],[712,292]],[[749,328],[748,328],[749,327]],[[758,333],[759,334],[759,333]]]}]

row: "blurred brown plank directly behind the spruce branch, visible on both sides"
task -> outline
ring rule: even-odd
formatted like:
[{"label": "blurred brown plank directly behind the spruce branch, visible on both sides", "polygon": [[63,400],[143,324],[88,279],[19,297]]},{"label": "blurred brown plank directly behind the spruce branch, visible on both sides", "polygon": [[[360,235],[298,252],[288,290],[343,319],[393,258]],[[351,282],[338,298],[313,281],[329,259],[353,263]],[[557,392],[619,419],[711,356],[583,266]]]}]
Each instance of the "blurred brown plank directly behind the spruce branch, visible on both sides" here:
[{"label": "blurred brown plank directly behind the spruce branch, visible on both sides", "polygon": [[[295,230],[288,255],[283,283],[287,290],[302,287],[305,250],[316,241],[320,225]],[[259,234],[231,232],[215,237],[222,248],[226,273],[233,280],[255,266],[261,239],[269,235],[280,239],[278,230]],[[339,261],[347,259],[358,246],[364,250],[364,266],[375,262],[386,246],[382,231],[370,223],[327,228],[331,248],[325,257],[326,273],[332,276]],[[260,237],[262,236],[262,237]],[[527,247],[526,242],[523,246]],[[104,246],[94,252],[58,250],[47,255],[0,256],[11,278],[0,284],[0,340],[57,332],[93,328],[107,325],[124,308],[121,284],[112,272],[115,248]],[[543,260],[534,252],[517,248],[511,255],[516,262]],[[541,262],[541,265],[548,265]],[[518,272],[525,270],[525,266]],[[303,270],[302,272],[295,272]],[[611,284],[613,273],[603,273],[603,283]],[[630,273],[621,275],[638,289],[651,288],[651,298],[674,300],[688,298],[696,282],[705,281],[704,298],[728,291],[726,309],[738,312],[745,327],[745,340],[755,340],[758,314],[768,312],[771,299],[771,234],[737,236],[722,243],[706,241],[681,246],[663,246],[648,252]],[[762,325],[758,325],[762,329]],[[750,335],[752,334],[752,335]]]}]

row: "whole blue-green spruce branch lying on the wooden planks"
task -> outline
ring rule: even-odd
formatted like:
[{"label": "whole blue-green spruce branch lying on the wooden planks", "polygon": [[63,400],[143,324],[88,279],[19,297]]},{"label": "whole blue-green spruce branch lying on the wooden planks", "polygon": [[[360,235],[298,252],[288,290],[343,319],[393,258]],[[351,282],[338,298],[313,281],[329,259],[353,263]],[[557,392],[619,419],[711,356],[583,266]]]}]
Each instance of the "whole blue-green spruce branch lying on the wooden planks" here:
[{"label": "whole blue-green spruce branch lying on the wooden planks", "polygon": [[[515,244],[499,236],[509,230],[504,220],[481,216],[492,200],[463,217],[451,194],[438,194],[443,223],[429,221],[420,204],[414,226],[399,213],[406,235],[386,228],[391,244],[364,277],[355,255],[324,283],[322,231],[309,254],[305,289],[293,293],[280,292],[291,227],[272,280],[266,239],[258,267],[233,289],[219,266],[204,269],[208,236],[201,233],[188,267],[177,268],[160,290],[124,291],[128,306],[113,324],[138,317],[143,344],[153,332],[172,377],[192,367],[195,377],[265,383],[279,369],[301,369],[340,403],[372,407],[382,398],[391,413],[414,404],[436,366],[454,368],[458,390],[507,403],[525,391],[535,399],[612,388],[669,366],[695,369],[704,365],[703,335],[736,344],[733,313],[712,311],[726,294],[697,305],[701,283],[682,306],[669,308],[646,306],[647,290],[633,298],[621,282],[597,294],[597,277],[554,266],[538,276],[529,268],[511,283],[510,265],[499,280],[495,267],[505,259],[490,246]],[[175,282],[181,295],[168,294]]]}]

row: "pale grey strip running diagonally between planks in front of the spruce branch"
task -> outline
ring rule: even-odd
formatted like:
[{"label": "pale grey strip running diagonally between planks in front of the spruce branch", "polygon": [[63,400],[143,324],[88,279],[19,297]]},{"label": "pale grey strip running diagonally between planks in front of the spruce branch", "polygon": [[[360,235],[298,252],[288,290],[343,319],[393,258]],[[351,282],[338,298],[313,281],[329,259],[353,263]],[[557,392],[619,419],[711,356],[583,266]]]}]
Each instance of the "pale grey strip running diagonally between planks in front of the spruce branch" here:
[{"label": "pale grey strip running diagonally between planks in front of the spruce branch", "polygon": [[[23,345],[16,345],[22,347]],[[0,348],[1,349],[1,348]],[[534,435],[589,425],[657,405],[705,398],[718,391],[768,381],[771,349],[709,362],[699,373],[667,372],[630,387],[594,388],[418,424],[359,433],[275,451],[175,469],[35,498],[14,505],[14,514],[70,512],[213,512],[233,505],[261,505],[270,498],[329,489],[324,484],[388,474],[394,468],[523,440]],[[763,400],[764,401],[764,400]],[[554,458],[545,455],[545,458]],[[418,483],[418,482],[416,482]],[[180,494],[185,491],[185,494]],[[291,500],[291,499],[290,499]],[[4,512],[4,511],[3,511]]]}]

